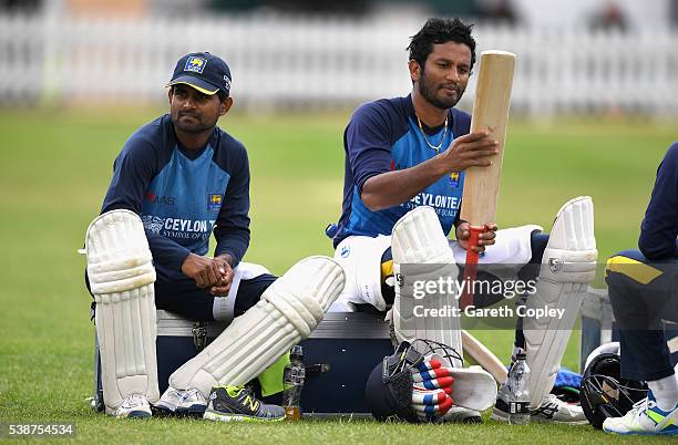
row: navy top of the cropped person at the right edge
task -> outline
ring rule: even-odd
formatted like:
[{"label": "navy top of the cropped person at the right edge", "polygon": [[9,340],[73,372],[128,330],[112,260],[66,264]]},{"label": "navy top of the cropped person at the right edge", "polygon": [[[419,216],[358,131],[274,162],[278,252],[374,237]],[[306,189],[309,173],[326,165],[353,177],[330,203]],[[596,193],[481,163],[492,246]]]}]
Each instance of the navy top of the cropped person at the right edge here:
[{"label": "navy top of the cropped person at the right edge", "polygon": [[638,247],[647,259],[678,258],[678,142],[657,168],[657,179],[645,218]]}]

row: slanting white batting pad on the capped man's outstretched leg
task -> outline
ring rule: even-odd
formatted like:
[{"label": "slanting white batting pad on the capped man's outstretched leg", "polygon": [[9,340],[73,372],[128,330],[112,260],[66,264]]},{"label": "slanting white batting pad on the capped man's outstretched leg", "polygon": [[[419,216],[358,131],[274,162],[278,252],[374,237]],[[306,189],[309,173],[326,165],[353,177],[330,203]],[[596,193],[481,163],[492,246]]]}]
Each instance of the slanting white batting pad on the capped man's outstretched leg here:
[{"label": "slanting white batting pad on the capped man's outstretched leg", "polygon": [[343,289],[341,266],[309,257],[291,267],[261,300],[224,330],[207,348],[170,376],[178,390],[205,397],[216,385],[243,385],[306,339]]}]

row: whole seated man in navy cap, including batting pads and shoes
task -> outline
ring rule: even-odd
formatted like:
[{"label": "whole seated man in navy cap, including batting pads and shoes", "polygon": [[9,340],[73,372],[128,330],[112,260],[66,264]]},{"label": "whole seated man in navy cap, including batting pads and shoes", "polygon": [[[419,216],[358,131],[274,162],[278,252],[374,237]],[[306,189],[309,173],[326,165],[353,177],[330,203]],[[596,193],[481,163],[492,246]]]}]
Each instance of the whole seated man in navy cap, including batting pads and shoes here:
[{"label": "whole seated man in navy cap, including batting pads and shoes", "polygon": [[[276,279],[240,262],[249,245],[249,165],[216,126],[233,105],[228,65],[184,55],[170,113],[142,126],[114,163],[101,215],[88,228],[106,413],[147,417],[150,403],[217,421],[280,421],[279,406],[243,385],[308,337],[343,288],[331,258],[310,257]],[[215,257],[208,257],[214,232]],[[230,322],[158,394],[155,308]],[[235,320],[234,320],[235,319]]]}]

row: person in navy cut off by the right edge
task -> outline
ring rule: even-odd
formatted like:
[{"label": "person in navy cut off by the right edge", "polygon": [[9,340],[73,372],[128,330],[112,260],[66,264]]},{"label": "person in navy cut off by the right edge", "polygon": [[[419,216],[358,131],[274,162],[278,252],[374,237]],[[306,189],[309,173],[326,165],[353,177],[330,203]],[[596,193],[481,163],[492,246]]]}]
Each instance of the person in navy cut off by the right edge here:
[{"label": "person in navy cut off by the right edge", "polygon": [[607,261],[606,281],[622,358],[622,377],[646,381],[648,396],[603,430],[616,434],[678,435],[678,380],[661,320],[678,322],[678,143],[657,169],[640,226],[639,250]]}]

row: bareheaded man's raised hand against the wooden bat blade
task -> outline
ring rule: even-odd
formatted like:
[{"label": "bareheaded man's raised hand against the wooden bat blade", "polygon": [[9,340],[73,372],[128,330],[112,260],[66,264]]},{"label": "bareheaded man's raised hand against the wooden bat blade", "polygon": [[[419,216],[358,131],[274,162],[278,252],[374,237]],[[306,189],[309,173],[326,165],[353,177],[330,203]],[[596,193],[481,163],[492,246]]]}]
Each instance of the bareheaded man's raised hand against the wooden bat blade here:
[{"label": "bareheaded man's raised hand against the wooden bat blade", "polygon": [[446,172],[463,172],[469,167],[487,167],[499,154],[499,142],[489,137],[486,131],[469,133],[452,142],[439,156]]}]

